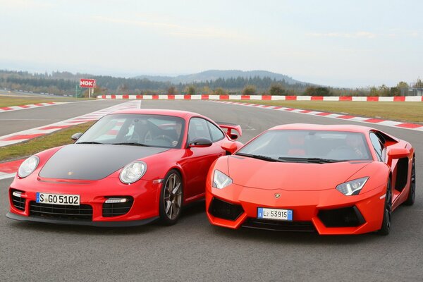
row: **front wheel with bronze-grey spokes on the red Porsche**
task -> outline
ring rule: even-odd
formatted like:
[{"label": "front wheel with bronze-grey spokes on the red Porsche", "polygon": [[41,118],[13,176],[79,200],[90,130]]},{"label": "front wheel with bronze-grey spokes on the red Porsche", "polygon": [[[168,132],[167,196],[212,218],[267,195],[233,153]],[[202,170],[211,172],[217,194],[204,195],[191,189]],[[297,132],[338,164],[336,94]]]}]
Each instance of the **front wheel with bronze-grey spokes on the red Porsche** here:
[{"label": "front wheel with bronze-grey spokes on the red Porsche", "polygon": [[161,185],[159,212],[162,224],[171,226],[178,221],[182,202],[182,177],[178,171],[172,169],[166,174],[163,185]]}]

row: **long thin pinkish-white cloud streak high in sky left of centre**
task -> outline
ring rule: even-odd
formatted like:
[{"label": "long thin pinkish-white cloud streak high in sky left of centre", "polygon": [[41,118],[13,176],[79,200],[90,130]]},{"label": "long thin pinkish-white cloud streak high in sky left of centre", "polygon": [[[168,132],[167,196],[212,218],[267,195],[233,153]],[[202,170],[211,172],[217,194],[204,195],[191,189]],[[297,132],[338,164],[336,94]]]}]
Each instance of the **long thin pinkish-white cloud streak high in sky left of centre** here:
[{"label": "long thin pinkish-white cloud streak high in sky left of centre", "polygon": [[117,23],[121,25],[131,25],[135,27],[145,27],[152,29],[157,32],[161,32],[165,35],[171,35],[175,37],[209,37],[209,38],[225,38],[225,39],[248,39],[243,35],[239,35],[235,32],[228,32],[227,30],[219,30],[213,27],[200,27],[192,28],[185,25],[179,25],[175,23],[166,23],[164,21],[154,20],[128,20],[124,18],[109,18],[104,16],[93,16],[97,22],[102,23]]}]

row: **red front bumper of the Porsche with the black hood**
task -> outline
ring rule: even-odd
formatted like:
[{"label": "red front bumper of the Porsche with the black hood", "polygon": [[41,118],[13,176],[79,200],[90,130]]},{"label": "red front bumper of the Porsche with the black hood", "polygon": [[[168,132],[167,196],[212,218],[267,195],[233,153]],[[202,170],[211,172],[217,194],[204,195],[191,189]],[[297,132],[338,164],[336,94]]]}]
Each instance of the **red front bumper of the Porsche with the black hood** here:
[{"label": "red front bumper of the Porsche with the black hood", "polygon": [[[123,185],[118,178],[102,180],[53,180],[37,176],[15,178],[9,188],[10,211],[6,216],[18,221],[83,226],[138,226],[159,218],[161,184],[139,180]],[[79,205],[41,204],[37,192],[79,195]],[[125,203],[106,202],[125,198]]]}]

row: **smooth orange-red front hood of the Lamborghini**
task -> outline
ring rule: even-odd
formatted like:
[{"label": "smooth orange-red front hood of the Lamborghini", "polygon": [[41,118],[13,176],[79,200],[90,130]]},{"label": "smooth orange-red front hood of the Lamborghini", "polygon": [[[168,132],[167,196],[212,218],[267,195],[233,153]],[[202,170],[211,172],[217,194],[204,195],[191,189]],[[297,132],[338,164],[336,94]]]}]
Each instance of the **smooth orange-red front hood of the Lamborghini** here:
[{"label": "smooth orange-red front hood of the Lamborghini", "polygon": [[317,191],[336,188],[370,161],[329,164],[271,162],[250,157],[228,157],[233,183],[265,190]]}]

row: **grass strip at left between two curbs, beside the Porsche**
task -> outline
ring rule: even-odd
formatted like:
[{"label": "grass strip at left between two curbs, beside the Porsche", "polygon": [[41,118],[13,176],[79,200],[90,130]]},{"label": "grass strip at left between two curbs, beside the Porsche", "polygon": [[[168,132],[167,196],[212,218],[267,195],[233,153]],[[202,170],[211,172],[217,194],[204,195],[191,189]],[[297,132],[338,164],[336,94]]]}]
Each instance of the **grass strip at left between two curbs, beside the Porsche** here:
[{"label": "grass strip at left between two curbs, beside the Porsche", "polygon": [[87,130],[93,123],[94,122],[91,121],[88,123],[74,125],[70,128],[62,129],[42,137],[37,137],[27,142],[1,147],[0,162],[12,159],[20,159],[45,149],[71,144],[74,142],[71,140],[71,136],[73,134],[85,132],[85,130]]}]

